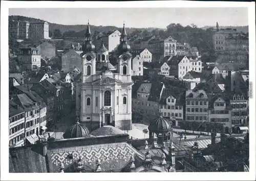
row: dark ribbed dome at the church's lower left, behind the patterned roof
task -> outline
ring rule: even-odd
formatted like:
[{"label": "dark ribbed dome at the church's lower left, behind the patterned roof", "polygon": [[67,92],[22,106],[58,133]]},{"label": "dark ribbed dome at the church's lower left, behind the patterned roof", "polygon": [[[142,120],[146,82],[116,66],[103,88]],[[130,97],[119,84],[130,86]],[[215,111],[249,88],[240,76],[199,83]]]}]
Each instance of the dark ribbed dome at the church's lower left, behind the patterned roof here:
[{"label": "dark ribbed dome at the church's lower left, behind the patterned roof", "polygon": [[63,137],[65,139],[69,138],[82,138],[82,137],[87,137],[90,135],[90,132],[88,131],[87,127],[83,124],[80,124],[79,121],[77,120],[76,124],[70,126]]}]

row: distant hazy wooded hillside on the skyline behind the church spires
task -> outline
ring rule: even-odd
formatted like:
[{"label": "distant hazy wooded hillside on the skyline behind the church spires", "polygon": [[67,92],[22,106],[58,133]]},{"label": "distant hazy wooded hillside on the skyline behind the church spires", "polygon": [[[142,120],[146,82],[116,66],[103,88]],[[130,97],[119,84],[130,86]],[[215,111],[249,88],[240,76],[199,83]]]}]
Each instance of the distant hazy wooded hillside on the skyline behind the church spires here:
[{"label": "distant hazy wooded hillside on the skyline behind the church spires", "polygon": [[[12,15],[9,16],[9,20],[20,20],[20,21],[29,21],[29,22],[44,22],[45,20],[42,19],[36,19],[36,18],[31,18],[31,17],[26,17],[26,16],[16,16],[16,15]],[[56,23],[49,23],[49,30],[51,32],[53,32],[55,29],[59,29],[61,34],[63,32],[68,32],[68,31],[75,31],[75,32],[79,32],[78,34],[82,34],[82,36],[84,36],[84,30],[87,28],[87,24],[76,24],[76,25],[63,25],[63,24],[56,24]],[[94,33],[95,31],[97,32],[109,32],[115,29],[121,29],[121,28],[117,28],[117,27],[112,27],[112,26],[95,26],[95,25],[90,25],[91,28],[91,32]],[[126,33],[130,34],[132,32],[134,32],[135,30],[139,30],[139,31],[143,31],[143,30],[147,30],[147,31],[152,31],[155,28],[126,28]]]}]

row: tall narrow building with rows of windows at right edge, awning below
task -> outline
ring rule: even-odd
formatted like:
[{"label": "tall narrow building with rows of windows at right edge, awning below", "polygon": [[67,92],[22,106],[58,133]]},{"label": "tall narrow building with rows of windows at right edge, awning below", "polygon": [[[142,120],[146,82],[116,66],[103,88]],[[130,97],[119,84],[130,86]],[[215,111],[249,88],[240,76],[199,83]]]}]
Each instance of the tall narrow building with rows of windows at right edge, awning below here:
[{"label": "tall narrow building with rows of windows at right edge, awning below", "polygon": [[230,97],[232,133],[248,131],[249,104],[246,94],[236,94]]}]

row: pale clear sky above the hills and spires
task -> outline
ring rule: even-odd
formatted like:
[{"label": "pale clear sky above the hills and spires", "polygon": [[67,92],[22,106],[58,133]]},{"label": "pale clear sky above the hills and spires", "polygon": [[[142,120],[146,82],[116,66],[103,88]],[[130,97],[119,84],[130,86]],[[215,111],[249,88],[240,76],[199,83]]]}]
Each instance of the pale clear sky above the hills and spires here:
[{"label": "pale clear sky above the hills and spires", "polygon": [[248,25],[247,8],[12,8],[9,15],[39,18],[58,24],[114,25],[132,28],[183,26]]}]

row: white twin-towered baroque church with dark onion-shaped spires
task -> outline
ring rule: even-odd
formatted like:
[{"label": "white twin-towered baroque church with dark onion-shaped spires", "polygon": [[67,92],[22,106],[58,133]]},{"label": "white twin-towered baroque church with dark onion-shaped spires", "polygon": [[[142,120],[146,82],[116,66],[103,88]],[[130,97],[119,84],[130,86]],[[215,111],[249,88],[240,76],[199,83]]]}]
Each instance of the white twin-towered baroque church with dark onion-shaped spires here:
[{"label": "white twin-towered baroque church with dark onion-shaped spires", "polygon": [[[76,114],[91,129],[113,125],[120,130],[132,129],[132,72],[124,28],[117,47],[117,66],[109,60],[109,51],[101,42],[99,49],[92,43],[90,24],[82,46],[81,76],[76,85]],[[94,127],[94,128],[92,128]]]}]

